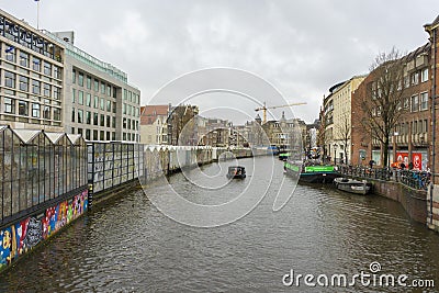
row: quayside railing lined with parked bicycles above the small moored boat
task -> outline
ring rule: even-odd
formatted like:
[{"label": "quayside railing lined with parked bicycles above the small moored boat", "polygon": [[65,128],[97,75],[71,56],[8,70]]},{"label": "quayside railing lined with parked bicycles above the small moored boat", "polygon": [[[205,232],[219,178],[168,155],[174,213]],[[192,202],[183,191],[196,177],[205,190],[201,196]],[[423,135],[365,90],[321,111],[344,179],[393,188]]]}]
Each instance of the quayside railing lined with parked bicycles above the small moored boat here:
[{"label": "quayside railing lined with parked bicycles above the small moored boat", "polygon": [[401,182],[417,190],[427,190],[430,183],[430,173],[426,171],[401,170],[395,168],[369,168],[364,166],[338,166],[341,174],[370,178],[385,181]]}]

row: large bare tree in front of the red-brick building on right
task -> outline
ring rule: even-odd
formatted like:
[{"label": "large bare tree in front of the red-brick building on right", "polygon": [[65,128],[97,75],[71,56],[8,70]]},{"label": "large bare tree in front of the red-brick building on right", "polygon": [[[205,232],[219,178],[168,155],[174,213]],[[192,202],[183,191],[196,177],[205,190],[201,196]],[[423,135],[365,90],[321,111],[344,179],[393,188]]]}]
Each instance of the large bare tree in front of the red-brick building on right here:
[{"label": "large bare tree in front of the red-brick building on right", "polygon": [[365,84],[365,94],[359,100],[364,113],[361,123],[381,143],[383,166],[387,166],[390,138],[406,110],[404,65],[402,54],[395,48],[379,54],[370,70],[372,81]]}]

